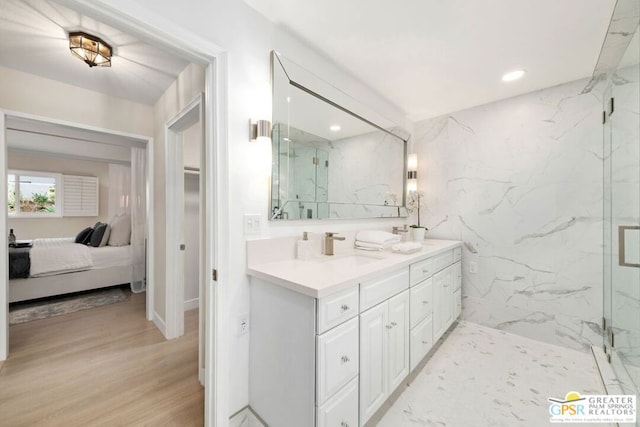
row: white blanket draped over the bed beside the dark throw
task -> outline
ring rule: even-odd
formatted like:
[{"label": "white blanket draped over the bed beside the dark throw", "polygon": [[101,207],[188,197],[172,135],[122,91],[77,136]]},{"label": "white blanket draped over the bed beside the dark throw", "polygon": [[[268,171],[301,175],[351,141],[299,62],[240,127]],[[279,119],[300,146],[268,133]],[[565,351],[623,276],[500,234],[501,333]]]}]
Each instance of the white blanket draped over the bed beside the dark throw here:
[{"label": "white blanket draped over the bed beside the dark throw", "polygon": [[93,266],[91,253],[73,238],[35,239],[29,252],[31,277],[87,270]]}]

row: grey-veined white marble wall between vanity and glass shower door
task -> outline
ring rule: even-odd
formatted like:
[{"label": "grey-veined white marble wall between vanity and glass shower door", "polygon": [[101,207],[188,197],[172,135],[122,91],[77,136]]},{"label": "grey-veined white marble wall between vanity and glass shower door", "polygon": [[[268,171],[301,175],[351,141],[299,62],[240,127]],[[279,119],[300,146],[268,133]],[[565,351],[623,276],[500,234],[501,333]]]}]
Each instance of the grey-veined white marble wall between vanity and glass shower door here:
[{"label": "grey-veined white marble wall between vanity and glass shower door", "polygon": [[464,241],[463,318],[581,350],[602,343],[602,101],[588,83],[426,120],[413,137],[428,237]]}]

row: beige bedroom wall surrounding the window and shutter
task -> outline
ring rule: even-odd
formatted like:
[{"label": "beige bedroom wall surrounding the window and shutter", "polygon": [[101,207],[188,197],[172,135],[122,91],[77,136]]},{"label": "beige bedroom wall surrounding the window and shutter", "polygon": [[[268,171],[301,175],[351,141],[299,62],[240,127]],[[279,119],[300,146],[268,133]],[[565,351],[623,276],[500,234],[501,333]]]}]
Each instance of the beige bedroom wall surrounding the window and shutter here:
[{"label": "beige bedroom wall surrounding the window and shutter", "polygon": [[100,184],[97,217],[9,218],[7,225],[14,229],[18,239],[75,237],[80,230],[93,226],[97,221],[108,221],[109,165],[107,163],[9,151],[7,165],[9,169],[96,176]]}]

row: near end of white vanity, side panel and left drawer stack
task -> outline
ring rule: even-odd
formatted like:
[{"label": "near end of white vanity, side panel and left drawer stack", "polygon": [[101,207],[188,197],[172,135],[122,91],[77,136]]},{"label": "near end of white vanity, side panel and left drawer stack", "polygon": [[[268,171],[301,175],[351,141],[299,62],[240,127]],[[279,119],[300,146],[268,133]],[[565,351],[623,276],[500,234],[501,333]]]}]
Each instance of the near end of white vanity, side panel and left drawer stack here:
[{"label": "near end of white vanity, side panel and left drawer stack", "polygon": [[358,425],[357,297],[358,284],[316,299],[252,280],[249,400],[268,425]]}]

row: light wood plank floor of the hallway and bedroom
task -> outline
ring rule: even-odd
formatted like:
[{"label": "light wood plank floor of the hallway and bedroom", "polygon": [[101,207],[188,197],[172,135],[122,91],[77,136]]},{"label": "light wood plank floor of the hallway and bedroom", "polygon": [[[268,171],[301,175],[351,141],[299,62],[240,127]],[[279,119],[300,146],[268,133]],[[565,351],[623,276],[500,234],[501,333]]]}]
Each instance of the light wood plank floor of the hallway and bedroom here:
[{"label": "light wood plank floor of the hallway and bedroom", "polygon": [[145,295],[10,327],[0,426],[202,426],[198,311],[166,341]]}]

